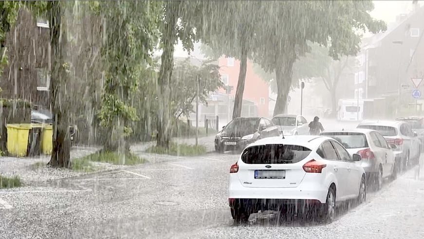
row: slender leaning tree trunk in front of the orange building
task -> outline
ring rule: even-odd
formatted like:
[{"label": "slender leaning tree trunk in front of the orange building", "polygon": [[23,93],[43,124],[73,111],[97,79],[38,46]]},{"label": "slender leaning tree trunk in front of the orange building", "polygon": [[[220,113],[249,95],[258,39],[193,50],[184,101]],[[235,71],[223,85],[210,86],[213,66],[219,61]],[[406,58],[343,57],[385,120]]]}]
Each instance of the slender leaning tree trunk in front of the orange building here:
[{"label": "slender leaning tree trunk in front of the orange building", "polygon": [[239,81],[237,83],[236,97],[234,98],[233,119],[241,116],[241,109],[243,107],[243,92],[244,82],[246,81],[247,71],[247,47],[245,41],[241,42],[241,59],[240,59],[240,72]]}]

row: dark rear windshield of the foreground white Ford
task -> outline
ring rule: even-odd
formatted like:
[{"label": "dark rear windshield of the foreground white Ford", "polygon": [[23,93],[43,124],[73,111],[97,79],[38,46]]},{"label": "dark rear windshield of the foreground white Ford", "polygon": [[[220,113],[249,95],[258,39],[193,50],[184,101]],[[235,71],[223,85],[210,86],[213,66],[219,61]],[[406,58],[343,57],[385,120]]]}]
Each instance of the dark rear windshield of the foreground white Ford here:
[{"label": "dark rear windshield of the foreground white Ford", "polygon": [[296,163],[310,153],[310,149],[299,145],[257,145],[246,148],[241,154],[241,160],[248,164]]}]

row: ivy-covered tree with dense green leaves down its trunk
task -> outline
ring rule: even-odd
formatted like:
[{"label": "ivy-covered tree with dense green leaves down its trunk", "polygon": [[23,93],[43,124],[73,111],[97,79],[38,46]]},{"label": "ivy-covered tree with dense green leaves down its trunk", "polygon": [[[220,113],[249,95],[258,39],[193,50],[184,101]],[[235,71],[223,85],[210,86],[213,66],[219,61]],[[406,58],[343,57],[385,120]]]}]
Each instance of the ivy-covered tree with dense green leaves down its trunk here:
[{"label": "ivy-covered tree with dense green leaves down its trunk", "polygon": [[151,52],[158,42],[156,20],[161,2],[106,1],[100,2],[100,9],[105,85],[99,116],[108,132],[104,149],[128,152],[131,124],[139,119],[132,96],[143,80],[141,71],[151,64]]}]

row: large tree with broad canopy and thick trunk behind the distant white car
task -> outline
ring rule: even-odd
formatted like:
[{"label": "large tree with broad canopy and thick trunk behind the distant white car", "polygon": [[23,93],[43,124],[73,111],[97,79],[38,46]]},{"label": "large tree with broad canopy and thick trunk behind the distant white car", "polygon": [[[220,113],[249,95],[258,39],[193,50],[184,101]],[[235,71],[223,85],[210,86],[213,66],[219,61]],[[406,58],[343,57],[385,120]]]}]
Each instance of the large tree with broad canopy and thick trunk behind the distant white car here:
[{"label": "large tree with broad canopy and thick trunk behind the distant white car", "polygon": [[277,103],[274,115],[284,113],[293,65],[309,52],[308,41],[329,46],[329,55],[355,55],[360,31],[385,30],[383,21],[369,16],[371,1],[275,1],[267,3],[268,24],[261,28],[254,59],[268,72],[276,72]]}]

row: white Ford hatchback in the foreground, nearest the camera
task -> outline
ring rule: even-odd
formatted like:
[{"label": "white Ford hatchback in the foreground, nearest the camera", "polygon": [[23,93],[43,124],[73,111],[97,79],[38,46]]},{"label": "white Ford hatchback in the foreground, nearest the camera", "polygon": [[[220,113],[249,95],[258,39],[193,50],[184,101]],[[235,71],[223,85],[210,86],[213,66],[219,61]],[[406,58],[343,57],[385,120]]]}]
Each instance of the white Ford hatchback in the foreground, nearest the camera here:
[{"label": "white Ford hatchback in the foreground, nearest the camera", "polygon": [[283,205],[318,209],[332,221],[336,204],[366,199],[364,169],[336,140],[323,136],[260,139],[230,168],[228,201],[235,220]]}]

